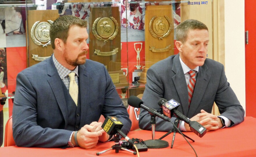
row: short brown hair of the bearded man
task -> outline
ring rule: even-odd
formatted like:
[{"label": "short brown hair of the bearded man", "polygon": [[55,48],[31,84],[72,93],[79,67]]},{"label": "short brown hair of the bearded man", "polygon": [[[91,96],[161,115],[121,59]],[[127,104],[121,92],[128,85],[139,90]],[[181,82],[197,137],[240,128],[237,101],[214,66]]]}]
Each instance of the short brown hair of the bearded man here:
[{"label": "short brown hair of the bearded man", "polygon": [[87,28],[87,21],[71,15],[61,16],[54,21],[50,27],[51,47],[53,49],[55,49],[54,41],[56,38],[61,39],[64,43],[67,42],[68,31],[72,25]]}]

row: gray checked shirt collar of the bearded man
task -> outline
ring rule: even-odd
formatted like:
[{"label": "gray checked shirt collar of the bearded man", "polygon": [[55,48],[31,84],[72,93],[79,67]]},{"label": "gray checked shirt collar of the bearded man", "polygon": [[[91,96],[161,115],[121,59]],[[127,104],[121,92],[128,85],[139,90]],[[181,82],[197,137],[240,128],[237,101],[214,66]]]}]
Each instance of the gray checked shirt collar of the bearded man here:
[{"label": "gray checked shirt collar of the bearded man", "polygon": [[56,67],[56,69],[58,71],[58,74],[61,77],[61,79],[66,77],[70,72],[74,72],[78,76],[78,66],[73,71],[71,71],[71,70],[65,68],[63,65],[61,65],[61,63],[59,63],[57,61],[57,59],[55,58],[54,54],[52,55],[52,59],[53,59],[53,63],[55,65],[55,67]]}]

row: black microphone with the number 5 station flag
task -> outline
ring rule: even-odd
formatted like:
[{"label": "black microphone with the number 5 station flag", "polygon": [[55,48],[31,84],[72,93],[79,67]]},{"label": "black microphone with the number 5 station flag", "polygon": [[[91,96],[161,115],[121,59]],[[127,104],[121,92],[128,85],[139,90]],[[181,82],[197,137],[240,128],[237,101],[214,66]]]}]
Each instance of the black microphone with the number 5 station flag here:
[{"label": "black microphone with the number 5 station flag", "polygon": [[189,124],[191,131],[194,132],[195,134],[197,134],[197,136],[203,137],[206,134],[205,127],[203,127],[197,121],[191,121],[189,118],[187,118],[186,116],[184,116],[182,113],[180,113],[177,110],[177,107],[179,107],[180,104],[177,101],[175,101],[174,99],[167,101],[166,99],[161,98],[158,101],[158,105],[163,109],[164,115],[171,118],[172,114],[170,114],[170,113],[173,113],[177,118],[179,118],[180,120]]}]

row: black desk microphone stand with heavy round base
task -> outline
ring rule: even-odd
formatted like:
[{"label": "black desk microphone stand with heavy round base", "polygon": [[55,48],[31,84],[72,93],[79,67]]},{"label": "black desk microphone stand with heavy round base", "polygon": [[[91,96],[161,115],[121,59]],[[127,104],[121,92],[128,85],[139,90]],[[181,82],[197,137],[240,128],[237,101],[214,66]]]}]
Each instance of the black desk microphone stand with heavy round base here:
[{"label": "black desk microphone stand with heavy round base", "polygon": [[[150,113],[150,112],[149,112]],[[145,140],[145,145],[147,148],[153,148],[153,149],[158,149],[158,148],[166,148],[169,146],[169,143],[165,140],[161,139],[155,139],[155,125],[156,125],[156,116],[151,114],[150,118],[150,124],[152,125],[152,140]]]}]

